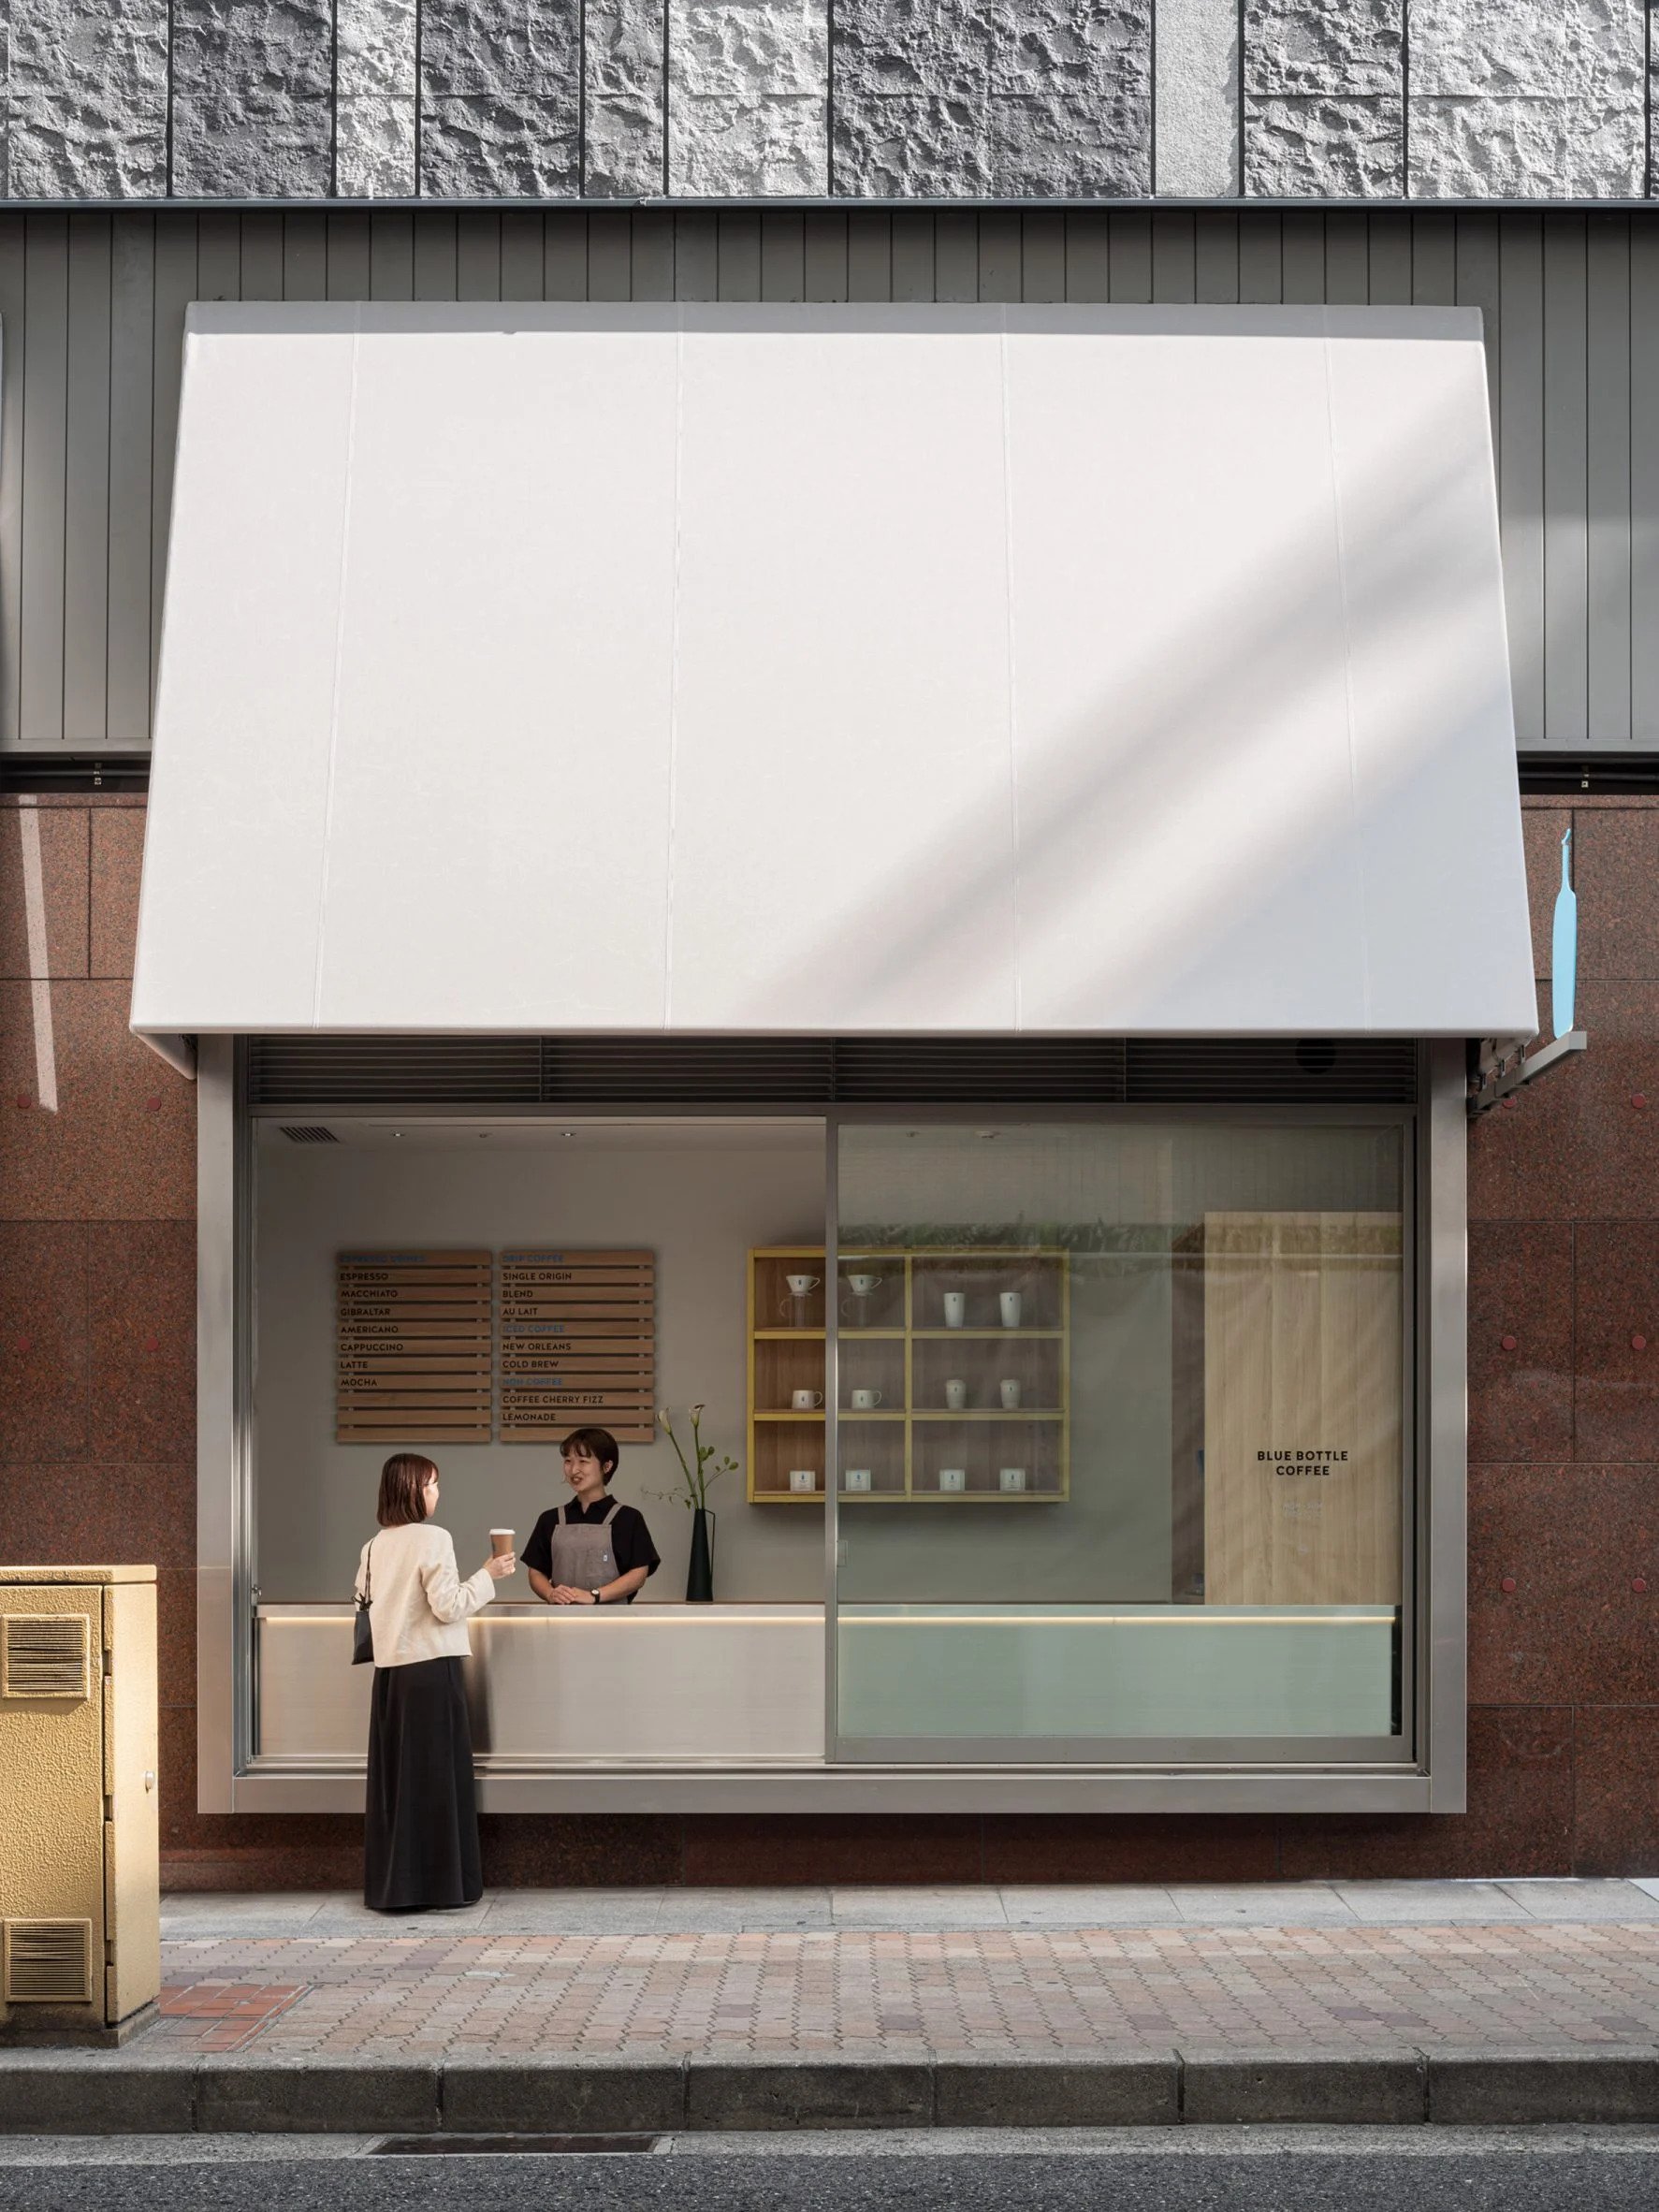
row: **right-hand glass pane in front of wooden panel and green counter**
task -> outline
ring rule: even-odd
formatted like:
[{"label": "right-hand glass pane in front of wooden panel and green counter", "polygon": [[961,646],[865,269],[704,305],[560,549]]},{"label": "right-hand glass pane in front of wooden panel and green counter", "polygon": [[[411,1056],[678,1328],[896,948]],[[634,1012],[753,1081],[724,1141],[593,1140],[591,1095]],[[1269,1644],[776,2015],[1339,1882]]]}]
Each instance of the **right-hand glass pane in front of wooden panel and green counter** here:
[{"label": "right-hand glass pane in front of wooden panel and green counter", "polygon": [[843,1756],[1400,1750],[1402,1157],[843,1126]]}]

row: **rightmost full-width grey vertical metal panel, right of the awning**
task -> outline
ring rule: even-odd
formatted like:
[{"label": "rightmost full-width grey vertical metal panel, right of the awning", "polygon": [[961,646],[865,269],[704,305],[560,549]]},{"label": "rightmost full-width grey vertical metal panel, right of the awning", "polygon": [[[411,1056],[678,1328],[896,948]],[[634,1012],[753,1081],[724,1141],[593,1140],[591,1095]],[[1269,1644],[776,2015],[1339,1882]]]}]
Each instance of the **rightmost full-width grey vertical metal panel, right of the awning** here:
[{"label": "rightmost full-width grey vertical metal panel, right of the awning", "polygon": [[1586,252],[1586,730],[1599,745],[1630,739],[1630,217],[1593,215]]}]

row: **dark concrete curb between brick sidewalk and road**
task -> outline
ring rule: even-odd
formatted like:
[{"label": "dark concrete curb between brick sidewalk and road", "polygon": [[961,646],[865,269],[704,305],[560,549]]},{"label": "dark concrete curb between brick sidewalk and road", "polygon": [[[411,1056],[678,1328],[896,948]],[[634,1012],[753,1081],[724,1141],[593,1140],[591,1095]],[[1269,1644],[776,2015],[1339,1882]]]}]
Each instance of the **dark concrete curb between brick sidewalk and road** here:
[{"label": "dark concrete curb between brick sidewalk and road", "polygon": [[0,2135],[672,2135],[787,2128],[1524,2126],[1659,2121],[1659,2046],[1126,2051],[1077,2059],[0,2055]]}]

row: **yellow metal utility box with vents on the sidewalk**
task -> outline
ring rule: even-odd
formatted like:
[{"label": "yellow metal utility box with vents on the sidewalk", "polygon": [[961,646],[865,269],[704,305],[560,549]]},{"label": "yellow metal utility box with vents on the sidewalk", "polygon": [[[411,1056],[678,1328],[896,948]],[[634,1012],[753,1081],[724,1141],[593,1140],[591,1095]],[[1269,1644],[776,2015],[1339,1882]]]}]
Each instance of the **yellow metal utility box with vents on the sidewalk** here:
[{"label": "yellow metal utility box with vents on the sidewalk", "polygon": [[153,2017],[155,1732],[155,1568],[0,1566],[0,2039]]}]

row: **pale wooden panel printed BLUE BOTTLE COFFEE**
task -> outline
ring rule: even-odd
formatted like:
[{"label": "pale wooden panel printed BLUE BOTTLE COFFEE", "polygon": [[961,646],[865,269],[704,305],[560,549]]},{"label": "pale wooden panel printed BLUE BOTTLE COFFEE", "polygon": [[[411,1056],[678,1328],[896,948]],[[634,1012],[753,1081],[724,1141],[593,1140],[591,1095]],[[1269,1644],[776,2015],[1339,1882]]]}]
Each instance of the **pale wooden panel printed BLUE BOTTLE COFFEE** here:
[{"label": "pale wooden panel printed BLUE BOTTLE COFFEE", "polygon": [[1400,1601],[1400,1214],[1203,1217],[1203,1597]]}]

